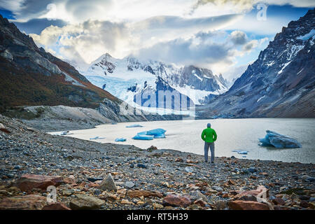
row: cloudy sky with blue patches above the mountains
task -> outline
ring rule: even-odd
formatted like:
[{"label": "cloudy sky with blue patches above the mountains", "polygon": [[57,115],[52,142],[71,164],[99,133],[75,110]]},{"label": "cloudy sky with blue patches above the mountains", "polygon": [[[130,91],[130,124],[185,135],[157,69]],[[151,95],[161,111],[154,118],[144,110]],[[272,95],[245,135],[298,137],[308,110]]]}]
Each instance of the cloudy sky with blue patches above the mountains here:
[{"label": "cloudy sky with blue patches above the mountains", "polygon": [[0,0],[0,13],[78,68],[106,52],[235,78],[314,0]]}]

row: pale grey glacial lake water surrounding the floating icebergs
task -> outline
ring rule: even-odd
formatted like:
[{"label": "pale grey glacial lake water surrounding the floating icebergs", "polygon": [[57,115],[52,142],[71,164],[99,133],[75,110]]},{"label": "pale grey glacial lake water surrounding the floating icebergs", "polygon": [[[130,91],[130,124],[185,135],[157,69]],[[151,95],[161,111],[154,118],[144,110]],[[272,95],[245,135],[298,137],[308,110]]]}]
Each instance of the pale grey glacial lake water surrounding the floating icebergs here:
[{"label": "pale grey glacial lake water surrounding the floating icebergs", "polygon": [[[243,158],[232,151],[248,151],[246,159],[276,160],[283,162],[315,163],[315,118],[248,118],[248,119],[216,119],[216,120],[167,120],[137,123],[118,123],[116,125],[99,125],[90,130],[70,131],[69,137],[90,140],[93,137],[105,138],[101,143],[128,144],[139,148],[157,146],[178,151],[203,155],[204,142],[200,135],[211,123],[216,130],[216,156]],[[126,127],[139,124],[144,127]],[[167,130],[166,139],[151,141],[134,140],[137,132],[163,128]],[[266,130],[285,134],[297,139],[302,148],[277,149],[258,146],[258,138],[265,137]],[[55,132],[52,132],[55,133]],[[116,138],[126,138],[125,142],[115,142]]]}]

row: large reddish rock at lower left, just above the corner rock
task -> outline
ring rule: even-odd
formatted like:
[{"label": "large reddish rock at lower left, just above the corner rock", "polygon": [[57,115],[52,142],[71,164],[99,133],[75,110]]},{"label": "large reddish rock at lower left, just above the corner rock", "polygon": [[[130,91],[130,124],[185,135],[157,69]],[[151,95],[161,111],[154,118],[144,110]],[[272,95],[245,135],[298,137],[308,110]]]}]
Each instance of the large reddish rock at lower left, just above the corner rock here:
[{"label": "large reddish rock at lower left, just above the corner rock", "polygon": [[61,176],[25,174],[18,179],[17,186],[23,191],[30,191],[34,188],[46,190],[48,186],[59,186],[61,183],[63,183]]}]

